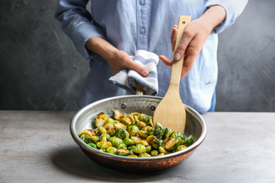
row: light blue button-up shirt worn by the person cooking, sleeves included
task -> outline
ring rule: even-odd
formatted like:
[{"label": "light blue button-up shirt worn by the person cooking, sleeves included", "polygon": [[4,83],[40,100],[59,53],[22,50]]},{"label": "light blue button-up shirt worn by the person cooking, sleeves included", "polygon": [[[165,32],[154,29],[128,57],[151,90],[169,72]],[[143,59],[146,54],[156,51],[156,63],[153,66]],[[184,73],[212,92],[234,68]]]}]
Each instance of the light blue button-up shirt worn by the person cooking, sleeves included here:
[{"label": "light blue button-up shirt worn by the person cooking, sleeves included", "polygon": [[[80,92],[80,108],[89,103],[126,92],[112,84],[109,77],[114,72],[104,59],[85,49],[90,37],[102,37],[116,48],[134,56],[139,49],[173,58],[171,30],[178,24],[180,15],[190,15],[195,20],[210,6],[220,5],[226,10],[226,19],[218,25],[205,42],[200,55],[188,75],[180,82],[183,103],[199,113],[208,111],[216,87],[217,34],[232,25],[243,11],[247,0],[60,0],[55,17],[62,30],[73,40],[76,49],[90,59],[90,72]],[[171,68],[162,62],[157,65],[159,93],[164,96],[169,87]]]}]

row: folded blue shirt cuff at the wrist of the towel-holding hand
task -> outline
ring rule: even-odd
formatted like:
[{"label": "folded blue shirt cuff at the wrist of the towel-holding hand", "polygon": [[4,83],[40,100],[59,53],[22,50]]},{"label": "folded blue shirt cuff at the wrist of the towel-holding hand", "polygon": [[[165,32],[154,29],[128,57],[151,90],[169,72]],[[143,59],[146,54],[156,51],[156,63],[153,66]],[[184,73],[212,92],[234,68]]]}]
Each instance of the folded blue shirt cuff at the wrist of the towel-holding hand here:
[{"label": "folded blue shirt cuff at the wrist of the towel-holding hand", "polygon": [[90,59],[95,53],[86,49],[85,44],[91,37],[104,37],[102,30],[94,26],[92,23],[82,22],[75,26],[71,39],[73,44],[75,44],[76,49],[84,56],[86,59]]}]

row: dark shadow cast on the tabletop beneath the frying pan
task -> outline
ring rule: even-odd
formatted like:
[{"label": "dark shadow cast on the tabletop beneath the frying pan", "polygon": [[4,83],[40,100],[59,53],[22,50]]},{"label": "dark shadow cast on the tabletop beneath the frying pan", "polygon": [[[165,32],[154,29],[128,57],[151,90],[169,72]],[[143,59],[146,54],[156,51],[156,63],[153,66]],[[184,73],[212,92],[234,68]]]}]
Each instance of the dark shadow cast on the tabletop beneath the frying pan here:
[{"label": "dark shadow cast on the tabletop beneath the frying pan", "polygon": [[68,147],[61,149],[59,152],[51,156],[54,165],[65,171],[78,175],[80,177],[87,177],[94,180],[111,181],[111,182],[147,182],[160,181],[164,179],[171,179],[169,172],[174,168],[164,170],[161,172],[146,173],[123,173],[109,168],[104,168],[102,165],[94,163],[81,151],[79,147]]}]

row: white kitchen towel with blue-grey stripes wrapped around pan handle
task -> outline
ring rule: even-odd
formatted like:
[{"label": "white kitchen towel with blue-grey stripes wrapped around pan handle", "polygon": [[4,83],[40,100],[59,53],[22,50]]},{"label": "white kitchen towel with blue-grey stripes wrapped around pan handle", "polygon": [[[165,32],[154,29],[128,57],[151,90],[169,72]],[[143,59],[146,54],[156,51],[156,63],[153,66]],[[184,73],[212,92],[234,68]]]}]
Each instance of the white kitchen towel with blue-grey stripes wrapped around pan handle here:
[{"label": "white kitchen towel with blue-grey stripes wrapped around pan handle", "polygon": [[159,84],[157,81],[157,64],[159,63],[159,57],[152,52],[138,50],[133,58],[135,63],[138,63],[145,67],[149,71],[147,77],[143,77],[135,70],[123,69],[116,75],[109,78],[111,84],[115,84],[117,87],[126,89],[130,94],[135,94],[135,83],[139,82],[143,85],[143,94],[145,95],[157,95],[159,91]]}]

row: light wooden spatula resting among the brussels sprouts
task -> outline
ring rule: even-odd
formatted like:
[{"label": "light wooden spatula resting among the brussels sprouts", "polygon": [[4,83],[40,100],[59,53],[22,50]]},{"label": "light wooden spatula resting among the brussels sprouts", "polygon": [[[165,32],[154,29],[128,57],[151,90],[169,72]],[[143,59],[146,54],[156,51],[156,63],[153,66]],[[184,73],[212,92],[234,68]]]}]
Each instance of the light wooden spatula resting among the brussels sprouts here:
[{"label": "light wooden spatula resting among the brussels sprouts", "polygon": [[[190,23],[190,21],[190,16],[180,16],[178,19],[178,34],[176,38],[175,50],[183,37],[183,30],[185,26]],[[157,122],[159,122],[164,128],[171,128],[173,132],[184,133],[186,113],[179,92],[183,58],[181,58],[180,61],[173,60],[169,89],[154,111],[153,119],[154,126]]]}]

